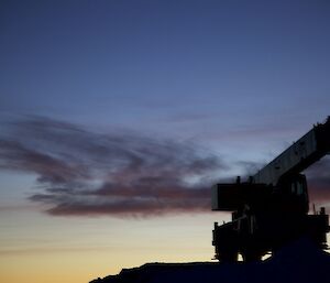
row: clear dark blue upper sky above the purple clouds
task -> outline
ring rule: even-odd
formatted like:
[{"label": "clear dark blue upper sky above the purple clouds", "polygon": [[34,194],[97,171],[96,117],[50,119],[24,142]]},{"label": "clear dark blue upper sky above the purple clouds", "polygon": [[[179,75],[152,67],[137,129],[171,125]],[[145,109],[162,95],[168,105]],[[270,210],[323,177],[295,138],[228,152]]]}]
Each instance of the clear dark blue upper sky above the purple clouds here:
[{"label": "clear dark blue upper sky above the purple clouds", "polygon": [[328,1],[2,1],[1,110],[193,119],[197,131],[314,122],[330,105],[329,12]]}]

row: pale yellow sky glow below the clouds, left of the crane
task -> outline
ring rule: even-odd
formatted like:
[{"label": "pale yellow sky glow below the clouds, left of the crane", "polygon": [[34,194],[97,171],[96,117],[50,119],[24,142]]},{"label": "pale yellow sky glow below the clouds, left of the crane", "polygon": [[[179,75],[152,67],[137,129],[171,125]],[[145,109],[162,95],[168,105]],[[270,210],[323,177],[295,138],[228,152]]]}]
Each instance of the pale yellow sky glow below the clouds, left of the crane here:
[{"label": "pale yellow sky glow below the clouds, left of the crane", "polygon": [[221,214],[140,220],[0,215],[0,282],[81,283],[147,262],[210,261],[212,221],[221,219]]}]

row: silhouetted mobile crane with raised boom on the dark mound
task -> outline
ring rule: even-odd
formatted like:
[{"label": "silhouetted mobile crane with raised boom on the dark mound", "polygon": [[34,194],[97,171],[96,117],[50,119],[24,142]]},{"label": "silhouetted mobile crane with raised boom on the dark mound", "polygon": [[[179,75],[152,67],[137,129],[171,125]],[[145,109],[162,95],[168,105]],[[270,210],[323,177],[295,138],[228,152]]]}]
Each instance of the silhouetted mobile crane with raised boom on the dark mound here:
[{"label": "silhouetted mobile crane with raised boom on the dark mound", "polygon": [[327,248],[329,217],[323,207],[308,215],[304,170],[330,152],[330,117],[314,127],[248,182],[212,187],[212,210],[233,211],[232,221],[215,224],[216,259],[261,260],[302,236]]}]

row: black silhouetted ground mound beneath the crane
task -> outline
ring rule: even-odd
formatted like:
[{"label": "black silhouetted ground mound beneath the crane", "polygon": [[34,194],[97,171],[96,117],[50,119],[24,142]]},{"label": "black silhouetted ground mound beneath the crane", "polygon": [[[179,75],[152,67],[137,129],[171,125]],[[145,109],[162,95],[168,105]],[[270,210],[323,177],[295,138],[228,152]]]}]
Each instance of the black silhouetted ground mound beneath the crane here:
[{"label": "black silhouetted ground mound beneath the crane", "polygon": [[330,283],[330,254],[308,239],[251,263],[146,263],[90,283]]}]

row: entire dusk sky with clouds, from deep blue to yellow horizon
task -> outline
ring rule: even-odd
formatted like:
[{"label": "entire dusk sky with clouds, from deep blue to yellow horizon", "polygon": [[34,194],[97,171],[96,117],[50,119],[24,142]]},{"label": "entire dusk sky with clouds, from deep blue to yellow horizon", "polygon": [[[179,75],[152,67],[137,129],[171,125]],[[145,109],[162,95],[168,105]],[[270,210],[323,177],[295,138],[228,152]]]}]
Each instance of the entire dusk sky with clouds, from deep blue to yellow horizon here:
[{"label": "entire dusk sky with clouds, from deep blue to yellow horizon", "polygon": [[[215,182],[330,115],[330,3],[0,3],[0,281],[213,257]],[[330,161],[306,172],[330,204]]]}]

